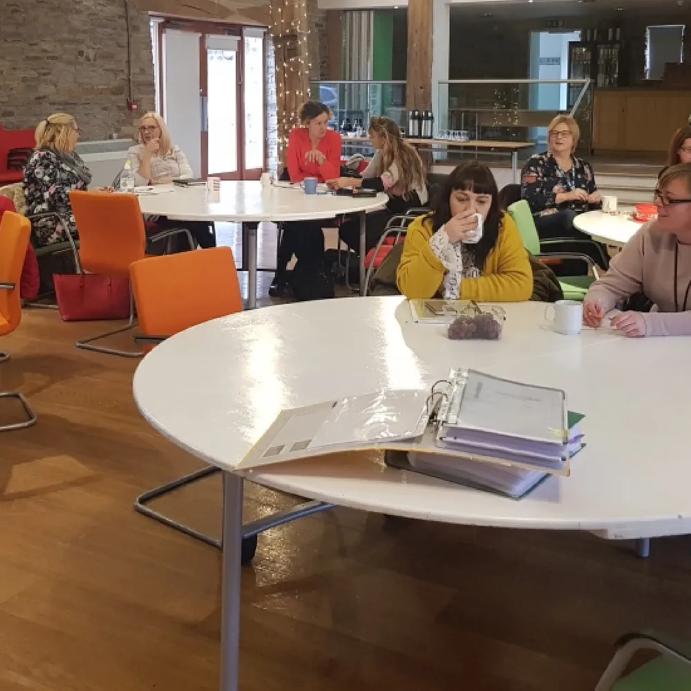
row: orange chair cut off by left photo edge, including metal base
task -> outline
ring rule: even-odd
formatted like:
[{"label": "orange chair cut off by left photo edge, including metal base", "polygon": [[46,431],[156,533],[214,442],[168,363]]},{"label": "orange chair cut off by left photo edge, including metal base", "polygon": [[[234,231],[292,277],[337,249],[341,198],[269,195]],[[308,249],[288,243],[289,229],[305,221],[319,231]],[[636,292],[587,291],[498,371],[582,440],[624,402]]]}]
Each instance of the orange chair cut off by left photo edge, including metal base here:
[{"label": "orange chair cut off by left photo edge, including metal base", "polygon": [[[0,336],[12,333],[21,321],[21,297],[19,278],[29,244],[31,223],[27,218],[6,211],[0,222]],[[6,352],[0,352],[0,362],[8,360]],[[23,394],[15,391],[0,392],[0,398],[15,398],[23,406],[28,420],[0,426],[0,432],[22,429],[36,424],[36,415]]]}]

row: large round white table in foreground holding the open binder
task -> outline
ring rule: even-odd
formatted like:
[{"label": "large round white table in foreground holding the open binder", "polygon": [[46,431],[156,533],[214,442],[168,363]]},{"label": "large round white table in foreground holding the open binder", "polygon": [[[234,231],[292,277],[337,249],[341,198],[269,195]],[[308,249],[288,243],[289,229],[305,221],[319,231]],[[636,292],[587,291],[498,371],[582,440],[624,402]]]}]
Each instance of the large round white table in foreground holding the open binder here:
[{"label": "large round white table in foreground holding the open binder", "polygon": [[144,417],[224,471],[222,691],[237,689],[239,657],[243,477],[234,469],[283,408],[428,388],[458,366],[563,388],[569,409],[586,416],[587,448],[571,477],[551,477],[520,501],[395,470],[377,455],[277,465],[251,479],[421,520],[611,539],[691,532],[688,339],[607,329],[566,337],[545,328],[544,304],[504,306],[495,342],[449,341],[443,327],[413,323],[399,297],[267,307],[191,328],[140,363],[134,396]]}]

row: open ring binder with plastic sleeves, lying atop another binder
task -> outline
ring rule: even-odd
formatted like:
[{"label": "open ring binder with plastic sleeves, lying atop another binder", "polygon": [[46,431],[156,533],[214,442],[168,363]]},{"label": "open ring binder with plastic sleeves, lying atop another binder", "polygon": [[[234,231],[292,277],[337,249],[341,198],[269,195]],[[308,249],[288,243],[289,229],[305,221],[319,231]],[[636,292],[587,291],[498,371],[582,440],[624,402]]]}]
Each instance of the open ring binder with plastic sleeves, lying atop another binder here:
[{"label": "open ring binder with plastic sleeves, lying atop another binder", "polygon": [[[504,400],[508,399],[508,400]],[[519,415],[522,407],[528,407]],[[570,422],[570,421],[569,421]],[[238,469],[345,451],[414,453],[429,464],[453,460],[569,475],[581,448],[567,432],[564,392],[454,370],[431,390],[382,390],[283,410]]]}]

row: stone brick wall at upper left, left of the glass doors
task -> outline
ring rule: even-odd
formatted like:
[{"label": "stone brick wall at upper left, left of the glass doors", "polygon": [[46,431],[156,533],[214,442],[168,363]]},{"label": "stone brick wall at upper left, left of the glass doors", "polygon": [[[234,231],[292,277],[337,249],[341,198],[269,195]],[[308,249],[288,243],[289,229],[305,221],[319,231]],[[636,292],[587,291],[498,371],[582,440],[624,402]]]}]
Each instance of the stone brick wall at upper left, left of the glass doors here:
[{"label": "stone brick wall at upper left, left of the glass doors", "polygon": [[[153,108],[149,17],[131,2],[133,97]],[[77,117],[83,140],[129,132],[124,0],[0,0],[0,123]]]}]

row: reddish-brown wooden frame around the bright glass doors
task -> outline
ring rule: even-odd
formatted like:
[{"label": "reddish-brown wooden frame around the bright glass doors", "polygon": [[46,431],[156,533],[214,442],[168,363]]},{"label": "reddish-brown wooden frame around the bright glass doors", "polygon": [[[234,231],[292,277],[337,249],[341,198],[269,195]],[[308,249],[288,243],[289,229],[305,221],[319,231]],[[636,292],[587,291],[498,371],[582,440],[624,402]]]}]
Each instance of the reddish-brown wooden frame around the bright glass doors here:
[{"label": "reddish-brown wooden frame around the bright glass doors", "polygon": [[[245,29],[263,30],[264,32],[264,50],[263,50],[263,69],[262,74],[266,75],[266,41],[268,27],[261,24],[237,24],[226,21],[213,20],[199,20],[186,19],[184,17],[175,17],[170,15],[151,15],[151,19],[156,20],[156,30],[158,31],[158,55],[154,59],[158,60],[158,84],[155,88],[158,93],[158,102],[160,103],[161,116],[165,119],[165,100],[164,100],[164,84],[165,84],[165,55],[164,55],[164,34],[166,29],[176,29],[178,31],[189,31],[200,34],[199,40],[199,54],[200,54],[200,100],[202,97],[208,98],[208,70],[207,70],[207,45],[206,39],[209,35],[217,36],[233,36],[238,38],[238,53],[237,53],[237,151],[238,151],[238,170],[235,173],[225,173],[221,178],[224,180],[258,180],[261,178],[261,173],[267,164],[267,137],[268,137],[268,117],[267,111],[267,93],[266,82],[263,88],[263,119],[264,119],[264,137],[263,137],[263,167],[260,169],[247,169],[245,167]],[[201,107],[201,101],[200,101]],[[200,146],[201,146],[201,164],[202,177],[207,177],[209,166],[209,134],[202,127],[200,132]]]}]

